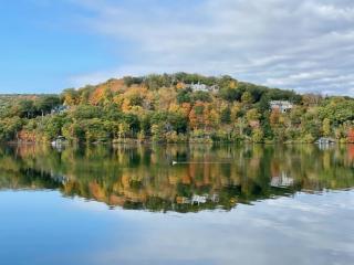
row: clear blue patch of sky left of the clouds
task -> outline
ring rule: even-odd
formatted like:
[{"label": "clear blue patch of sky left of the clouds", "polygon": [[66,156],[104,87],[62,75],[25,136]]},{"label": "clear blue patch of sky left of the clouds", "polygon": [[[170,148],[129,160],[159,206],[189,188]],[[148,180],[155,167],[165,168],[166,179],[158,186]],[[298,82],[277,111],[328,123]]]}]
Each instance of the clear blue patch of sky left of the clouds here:
[{"label": "clear blue patch of sky left of the clouds", "polygon": [[73,85],[71,76],[119,62],[108,40],[73,22],[76,15],[88,13],[64,1],[2,3],[1,93],[60,92]]}]

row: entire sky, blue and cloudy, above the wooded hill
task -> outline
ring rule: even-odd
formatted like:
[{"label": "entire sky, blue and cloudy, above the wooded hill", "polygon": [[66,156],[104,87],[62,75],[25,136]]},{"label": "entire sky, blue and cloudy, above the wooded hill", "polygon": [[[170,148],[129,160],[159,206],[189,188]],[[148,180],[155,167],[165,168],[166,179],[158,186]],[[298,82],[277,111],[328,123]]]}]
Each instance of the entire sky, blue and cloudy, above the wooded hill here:
[{"label": "entire sky, blue and cloudy, above the wooded hill", "polygon": [[353,0],[0,0],[0,93],[191,72],[354,96]]}]

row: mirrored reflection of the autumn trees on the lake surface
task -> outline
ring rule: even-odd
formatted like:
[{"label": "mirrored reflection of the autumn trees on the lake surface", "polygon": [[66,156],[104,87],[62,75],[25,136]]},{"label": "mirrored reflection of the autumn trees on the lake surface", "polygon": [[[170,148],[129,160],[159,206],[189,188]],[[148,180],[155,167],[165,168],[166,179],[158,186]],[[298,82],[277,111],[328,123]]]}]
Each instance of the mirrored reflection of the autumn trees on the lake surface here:
[{"label": "mirrored reflection of the autumn trees on the lake surface", "polygon": [[353,163],[354,146],[15,146],[0,149],[0,189],[60,190],[111,208],[230,210],[353,188]]}]

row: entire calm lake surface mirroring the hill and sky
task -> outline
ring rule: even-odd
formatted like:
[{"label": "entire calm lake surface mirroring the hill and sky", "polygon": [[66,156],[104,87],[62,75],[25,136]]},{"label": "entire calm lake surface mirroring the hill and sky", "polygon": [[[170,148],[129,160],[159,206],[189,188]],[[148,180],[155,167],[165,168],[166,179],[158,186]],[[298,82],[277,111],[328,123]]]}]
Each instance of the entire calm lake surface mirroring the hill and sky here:
[{"label": "entire calm lake surface mirroring the hill and sky", "polygon": [[354,264],[354,145],[0,148],[0,263]]}]

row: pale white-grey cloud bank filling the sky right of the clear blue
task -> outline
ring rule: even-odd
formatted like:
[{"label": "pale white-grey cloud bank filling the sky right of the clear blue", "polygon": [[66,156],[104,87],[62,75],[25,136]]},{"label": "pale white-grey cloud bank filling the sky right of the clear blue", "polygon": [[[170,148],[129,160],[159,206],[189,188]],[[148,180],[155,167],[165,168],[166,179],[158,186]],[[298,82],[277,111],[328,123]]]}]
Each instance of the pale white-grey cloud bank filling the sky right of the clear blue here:
[{"label": "pale white-grey cloud bank filling the sky right of the clear blue", "polygon": [[82,25],[131,43],[129,62],[102,78],[191,71],[353,95],[353,1],[71,1],[91,12]]}]

